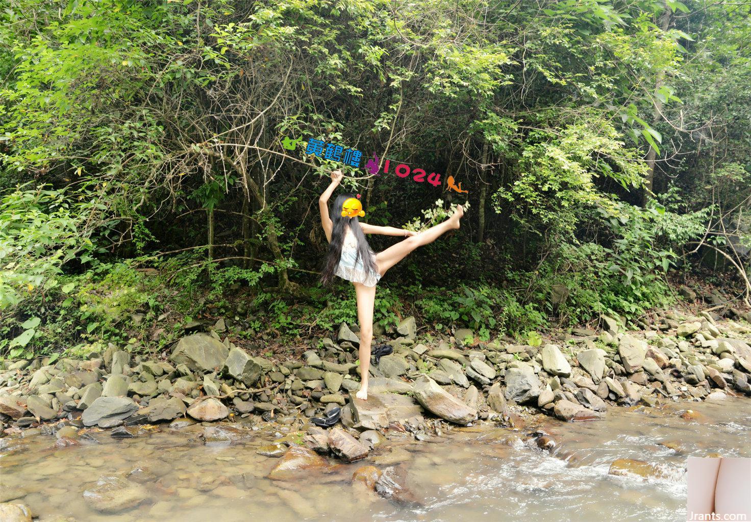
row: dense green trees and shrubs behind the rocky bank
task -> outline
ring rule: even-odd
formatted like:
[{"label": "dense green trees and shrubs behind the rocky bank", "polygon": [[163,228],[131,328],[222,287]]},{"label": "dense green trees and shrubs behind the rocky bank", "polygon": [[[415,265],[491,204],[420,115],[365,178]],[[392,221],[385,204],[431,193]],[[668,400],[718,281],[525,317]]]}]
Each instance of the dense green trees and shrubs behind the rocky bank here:
[{"label": "dense green trees and shrubs behind the rocky bank", "polygon": [[384,326],[637,320],[673,299],[671,269],[748,303],[749,3],[2,4],[0,353],[355,322],[351,285],[318,285],[315,199],[342,165],[286,136],[391,160],[345,168],[370,223],[471,202],[384,279]]}]

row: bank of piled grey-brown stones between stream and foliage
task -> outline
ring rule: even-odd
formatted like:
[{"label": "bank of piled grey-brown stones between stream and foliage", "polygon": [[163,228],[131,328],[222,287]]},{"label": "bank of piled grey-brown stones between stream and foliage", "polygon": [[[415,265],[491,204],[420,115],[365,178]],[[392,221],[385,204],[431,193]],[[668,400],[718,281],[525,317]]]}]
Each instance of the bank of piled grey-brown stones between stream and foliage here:
[{"label": "bank of piled grey-brown stones between stream and foliage", "polygon": [[342,407],[344,429],[311,428],[306,444],[357,460],[366,454],[363,437],[377,438],[393,423],[429,438],[445,422],[513,425],[529,413],[601,419],[615,405],[751,395],[751,327],[744,319],[668,311],[639,331],[611,317],[600,324],[597,332],[575,329],[533,347],[470,341],[469,330],[428,341],[409,317],[390,334],[394,353],[371,366],[368,401],[354,397],[359,339],[343,323],[336,339],[318,341],[300,359],[252,356],[210,330],[186,335],[167,360],[110,345],[86,361],[6,361],[0,427],[12,433],[56,423],[127,434],[182,418],[292,425]]}]

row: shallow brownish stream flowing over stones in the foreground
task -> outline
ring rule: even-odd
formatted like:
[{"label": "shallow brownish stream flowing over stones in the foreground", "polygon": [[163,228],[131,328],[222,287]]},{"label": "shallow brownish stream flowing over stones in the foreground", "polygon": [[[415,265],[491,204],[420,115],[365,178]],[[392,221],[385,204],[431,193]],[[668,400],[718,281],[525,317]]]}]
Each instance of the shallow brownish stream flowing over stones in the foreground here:
[{"label": "shallow brownish stream flowing over stones in the foreground", "polygon": [[[691,415],[680,414],[686,409]],[[276,458],[258,455],[286,427],[267,427],[228,446],[199,437],[201,425],[142,430],[132,439],[92,431],[94,440],[56,447],[55,437],[27,431],[0,439],[0,493],[36,515],[59,520],[685,520],[686,458],[751,457],[751,401],[611,408],[607,419],[539,426],[454,429],[430,442],[391,440],[368,459],[292,481],[267,474]],[[556,440],[538,449],[529,433]],[[619,458],[656,464],[653,478],[608,474]],[[420,500],[399,505],[353,487],[363,464],[407,470]],[[101,477],[134,484],[125,511],[92,510],[84,493]],[[10,493],[9,493],[10,492]],[[15,492],[13,494],[13,492]]]}]

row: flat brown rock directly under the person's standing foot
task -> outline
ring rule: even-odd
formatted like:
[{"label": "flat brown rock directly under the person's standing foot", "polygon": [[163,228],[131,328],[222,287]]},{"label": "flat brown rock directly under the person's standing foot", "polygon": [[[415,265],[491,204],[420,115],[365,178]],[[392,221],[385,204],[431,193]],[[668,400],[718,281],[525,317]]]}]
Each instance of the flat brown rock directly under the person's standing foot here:
[{"label": "flat brown rock directly under the person's standing foot", "polygon": [[[423,413],[420,405],[411,397],[391,393],[368,393],[367,401],[350,397],[348,409],[352,421],[348,428],[363,430],[380,430],[390,422],[405,421]],[[342,413],[342,423],[345,420]]]}]

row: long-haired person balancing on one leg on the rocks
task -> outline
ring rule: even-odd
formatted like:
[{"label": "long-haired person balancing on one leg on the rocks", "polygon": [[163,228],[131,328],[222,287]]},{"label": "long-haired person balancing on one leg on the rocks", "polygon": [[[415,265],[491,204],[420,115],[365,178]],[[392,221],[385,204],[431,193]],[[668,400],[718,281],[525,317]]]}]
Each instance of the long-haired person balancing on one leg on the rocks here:
[{"label": "long-haired person balancing on one leg on the rocks", "polygon": [[[338,275],[354,284],[354,292],[357,296],[357,319],[360,320],[360,391],[357,392],[357,398],[366,400],[368,398],[370,343],[373,337],[375,284],[388,269],[403,260],[415,248],[436,241],[439,236],[449,230],[458,229],[464,209],[460,206],[454,215],[443,223],[421,233],[397,229],[394,226],[360,223],[357,219],[357,212],[350,211],[348,207],[350,202],[347,200],[354,197],[352,194],[342,194],[336,197],[331,207],[331,214],[329,214],[328,200],[343,177],[341,170],[333,171],[331,184],[318,199],[321,224],[329,242],[321,282],[330,284],[333,276]],[[375,254],[368,245],[365,234],[402,236],[406,239]]]}]

